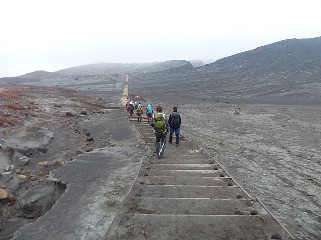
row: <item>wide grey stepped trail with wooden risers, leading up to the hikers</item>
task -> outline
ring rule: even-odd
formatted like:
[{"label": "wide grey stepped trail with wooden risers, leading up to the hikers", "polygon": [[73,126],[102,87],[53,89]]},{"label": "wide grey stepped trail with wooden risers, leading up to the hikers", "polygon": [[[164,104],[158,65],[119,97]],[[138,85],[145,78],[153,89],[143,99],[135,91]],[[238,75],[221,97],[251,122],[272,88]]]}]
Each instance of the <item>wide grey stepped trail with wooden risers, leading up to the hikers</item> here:
[{"label": "wide grey stepped trail with wooden risers, leading up to the hikers", "polygon": [[151,151],[104,239],[294,239],[202,147],[182,137],[160,159],[147,119],[128,117]]}]

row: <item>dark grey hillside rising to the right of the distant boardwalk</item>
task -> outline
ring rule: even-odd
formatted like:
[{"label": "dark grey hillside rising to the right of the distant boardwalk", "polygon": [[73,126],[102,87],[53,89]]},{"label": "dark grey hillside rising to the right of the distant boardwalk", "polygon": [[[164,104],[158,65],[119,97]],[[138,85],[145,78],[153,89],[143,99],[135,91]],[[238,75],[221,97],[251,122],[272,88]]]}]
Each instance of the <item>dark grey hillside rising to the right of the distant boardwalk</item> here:
[{"label": "dark grey hillside rising to the right of the distant boardwalk", "polygon": [[[321,101],[321,37],[289,39],[185,71],[131,74],[135,92],[265,102]],[[162,84],[161,84],[162,83]]]}]

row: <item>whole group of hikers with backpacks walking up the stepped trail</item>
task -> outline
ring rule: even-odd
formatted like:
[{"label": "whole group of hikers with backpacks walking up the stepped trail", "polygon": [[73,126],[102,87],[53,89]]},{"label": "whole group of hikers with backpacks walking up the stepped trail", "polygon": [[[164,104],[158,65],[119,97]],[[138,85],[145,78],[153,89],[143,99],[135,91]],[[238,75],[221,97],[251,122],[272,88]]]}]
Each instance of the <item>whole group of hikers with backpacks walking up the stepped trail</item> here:
[{"label": "whole group of hikers with backpacks walking up the stepped trail", "polygon": [[[139,102],[129,102],[126,103],[127,111],[133,116],[134,110],[137,116],[137,121],[141,122],[143,109],[142,104]],[[180,142],[180,127],[181,127],[181,116],[177,112],[177,106],[173,107],[173,112],[171,112],[168,117],[163,113],[163,107],[157,106],[156,113],[154,113],[151,105],[146,108],[145,114],[147,115],[147,120],[150,126],[154,128],[156,142],[155,142],[155,153],[158,154],[159,158],[163,158],[163,153],[165,149],[166,136],[170,135],[169,143],[172,144],[173,133],[175,133],[176,141],[175,146],[179,146]]]}]

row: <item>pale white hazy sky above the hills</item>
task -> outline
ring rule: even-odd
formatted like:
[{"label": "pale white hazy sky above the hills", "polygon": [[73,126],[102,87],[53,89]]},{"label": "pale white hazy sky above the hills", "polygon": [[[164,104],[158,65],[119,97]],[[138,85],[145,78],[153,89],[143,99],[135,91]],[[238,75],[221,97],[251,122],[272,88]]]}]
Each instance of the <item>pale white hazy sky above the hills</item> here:
[{"label": "pale white hazy sky above the hills", "polygon": [[93,63],[209,63],[321,36],[321,0],[1,0],[0,77]]}]

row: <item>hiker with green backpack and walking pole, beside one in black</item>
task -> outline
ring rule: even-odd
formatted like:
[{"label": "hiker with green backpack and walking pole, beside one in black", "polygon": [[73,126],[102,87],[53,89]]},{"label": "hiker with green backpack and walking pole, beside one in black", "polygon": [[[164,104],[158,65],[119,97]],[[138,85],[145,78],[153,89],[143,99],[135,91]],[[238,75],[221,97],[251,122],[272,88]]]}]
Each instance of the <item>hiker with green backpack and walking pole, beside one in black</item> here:
[{"label": "hiker with green backpack and walking pole, beside one in black", "polygon": [[156,112],[157,113],[152,115],[149,125],[155,130],[155,153],[158,154],[159,158],[162,158],[165,149],[166,135],[169,133],[170,129],[167,115],[163,113],[163,107],[157,106]]}]

